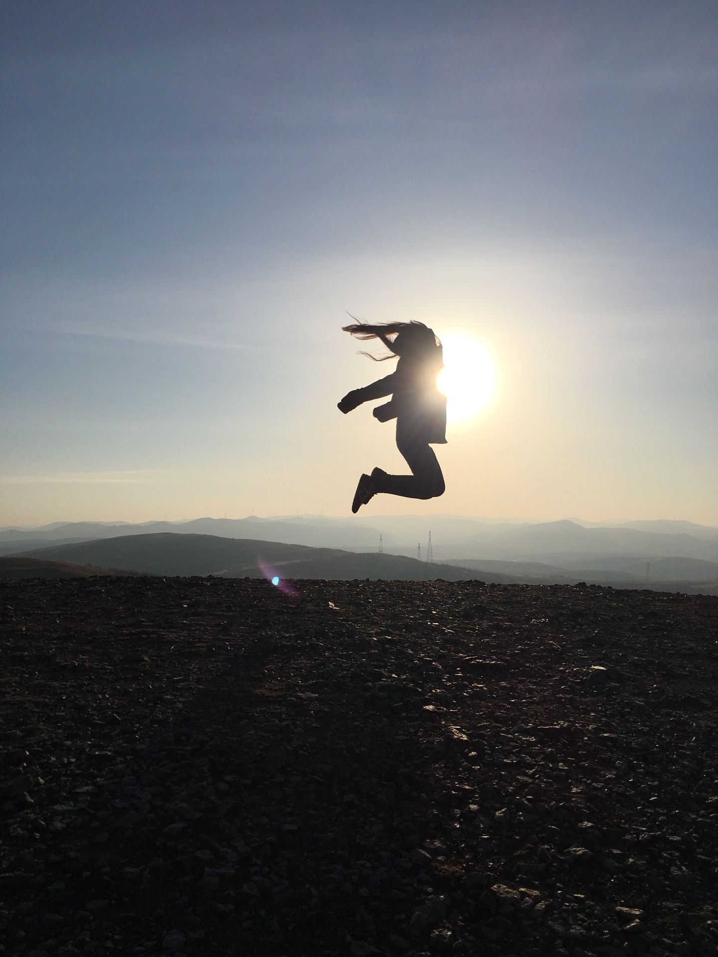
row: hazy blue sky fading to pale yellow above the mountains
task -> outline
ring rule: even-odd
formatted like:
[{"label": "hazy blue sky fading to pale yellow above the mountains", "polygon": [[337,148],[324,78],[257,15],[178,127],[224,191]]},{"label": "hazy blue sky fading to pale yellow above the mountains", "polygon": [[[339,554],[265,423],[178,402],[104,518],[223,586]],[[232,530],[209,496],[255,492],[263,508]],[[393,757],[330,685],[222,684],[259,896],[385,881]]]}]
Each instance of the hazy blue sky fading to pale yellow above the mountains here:
[{"label": "hazy blue sky fading to pale yellow above the mountains", "polygon": [[718,524],[718,5],[2,4],[0,524],[349,513],[346,310],[498,388],[363,514]]}]

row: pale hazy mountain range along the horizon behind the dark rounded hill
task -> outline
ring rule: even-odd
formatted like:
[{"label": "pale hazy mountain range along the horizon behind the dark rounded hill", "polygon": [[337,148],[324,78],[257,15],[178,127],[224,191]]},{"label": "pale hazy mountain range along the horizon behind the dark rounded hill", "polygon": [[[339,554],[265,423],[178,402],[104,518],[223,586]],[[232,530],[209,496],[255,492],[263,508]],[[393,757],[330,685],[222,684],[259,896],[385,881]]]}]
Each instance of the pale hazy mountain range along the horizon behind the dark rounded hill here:
[{"label": "pale hazy mountain range along the horizon behind the dark rounded hill", "polygon": [[[52,523],[34,529],[0,529],[0,555],[25,554],[38,548],[45,553],[51,546],[69,547],[88,540],[191,534],[365,555],[378,552],[381,542],[385,555],[415,559],[419,545],[421,557],[427,557],[429,532],[436,561],[505,575],[506,580],[572,581],[580,575],[586,581],[634,584],[718,582],[718,528],[668,520],[599,525],[452,515],[360,515],[356,519],[303,515],[204,518],[185,523]],[[318,560],[318,556],[314,558]],[[97,564],[94,558],[87,561]],[[358,558],[356,562],[359,568],[361,562]]]}]

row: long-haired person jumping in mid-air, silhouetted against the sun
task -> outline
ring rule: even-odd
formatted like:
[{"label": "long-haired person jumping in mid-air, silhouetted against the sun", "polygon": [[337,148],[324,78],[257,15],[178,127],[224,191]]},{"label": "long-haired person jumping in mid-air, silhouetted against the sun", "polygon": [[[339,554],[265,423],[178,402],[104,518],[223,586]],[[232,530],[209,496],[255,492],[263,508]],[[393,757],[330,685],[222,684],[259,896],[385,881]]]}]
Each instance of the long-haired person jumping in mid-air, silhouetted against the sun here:
[{"label": "long-haired person jumping in mid-air, silhouetted against the sun", "polygon": [[364,389],[353,389],[338,403],[341,412],[351,412],[363,402],[391,395],[392,399],[373,411],[380,422],[396,419],[396,448],[412,470],[410,476],[391,476],[375,468],[359,479],[351,502],[355,514],[374,496],[400,495],[406,499],[434,499],[444,492],[444,477],[430,443],[446,442],[446,397],[437,388],[443,367],[441,343],[424,323],[353,323],[343,326],[357,339],[379,339],[391,355],[374,362],[398,357],[396,370]]}]

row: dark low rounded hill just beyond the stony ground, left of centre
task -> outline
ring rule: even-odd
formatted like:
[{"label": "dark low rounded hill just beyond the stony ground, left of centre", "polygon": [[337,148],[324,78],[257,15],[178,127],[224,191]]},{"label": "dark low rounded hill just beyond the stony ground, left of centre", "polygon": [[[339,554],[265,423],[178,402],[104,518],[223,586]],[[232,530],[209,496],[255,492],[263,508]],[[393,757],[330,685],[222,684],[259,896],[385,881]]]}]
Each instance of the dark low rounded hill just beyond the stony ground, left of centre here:
[{"label": "dark low rounded hill just beyond the stony ground, left of centre", "polygon": [[474,577],[465,568],[418,562],[401,555],[357,554],[213,535],[155,533],[54,545],[27,557],[130,568],[156,575],[219,575],[225,578],[389,578],[398,581],[461,581]]}]

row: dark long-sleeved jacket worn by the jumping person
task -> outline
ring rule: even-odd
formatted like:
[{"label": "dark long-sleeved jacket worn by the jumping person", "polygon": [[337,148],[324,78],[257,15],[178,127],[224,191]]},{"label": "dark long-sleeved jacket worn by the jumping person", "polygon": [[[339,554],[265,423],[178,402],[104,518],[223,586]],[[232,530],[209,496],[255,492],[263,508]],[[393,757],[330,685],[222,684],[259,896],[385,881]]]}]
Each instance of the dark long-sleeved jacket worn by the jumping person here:
[{"label": "dark long-sleeved jacket worn by the jumping person", "polygon": [[339,403],[342,412],[349,412],[363,402],[391,395],[392,399],[374,409],[380,422],[396,419],[396,432],[422,443],[446,442],[446,396],[437,389],[437,375],[442,366],[441,354],[422,363],[399,357],[396,370],[372,382],[364,389],[354,389]]}]

